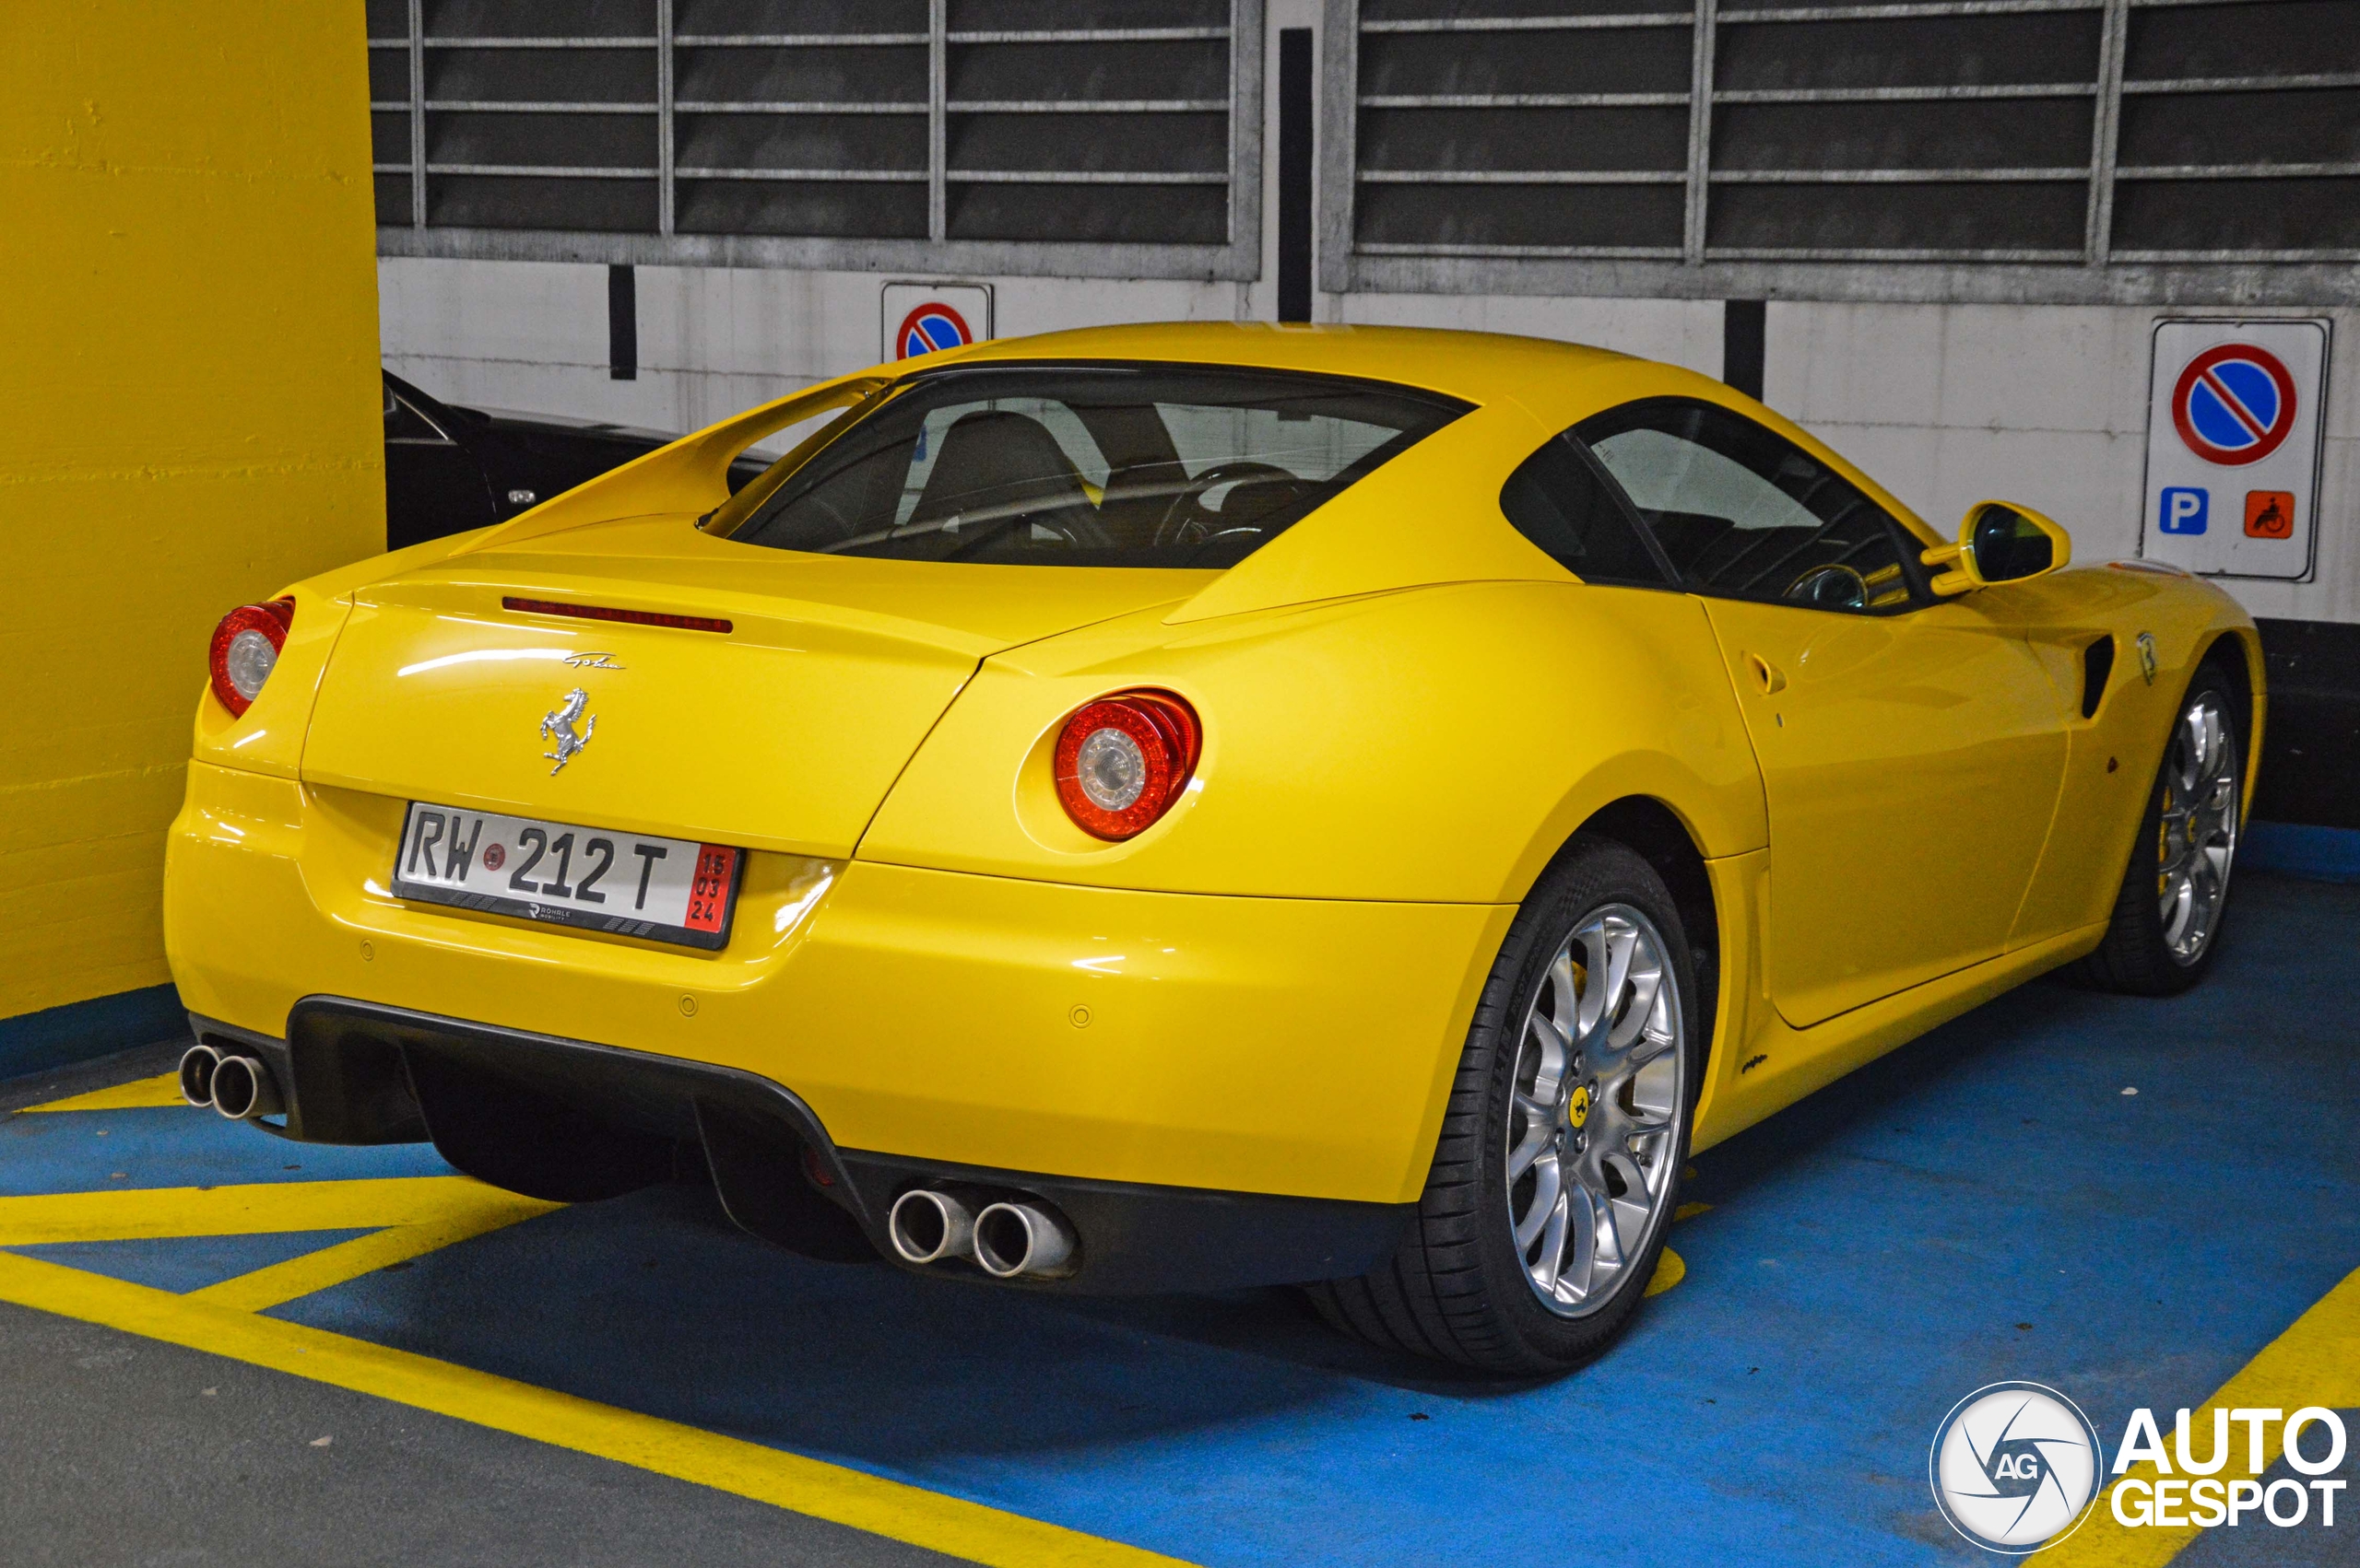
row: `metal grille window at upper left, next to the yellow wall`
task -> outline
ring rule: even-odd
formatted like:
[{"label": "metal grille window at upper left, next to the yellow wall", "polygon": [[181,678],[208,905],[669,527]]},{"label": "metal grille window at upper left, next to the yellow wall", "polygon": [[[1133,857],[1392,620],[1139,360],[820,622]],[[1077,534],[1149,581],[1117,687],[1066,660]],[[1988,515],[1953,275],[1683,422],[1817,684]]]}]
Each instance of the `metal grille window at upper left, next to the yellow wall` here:
[{"label": "metal grille window at upper left, next to the yellow wall", "polygon": [[378,248],[1248,278],[1260,9],[368,0]]}]

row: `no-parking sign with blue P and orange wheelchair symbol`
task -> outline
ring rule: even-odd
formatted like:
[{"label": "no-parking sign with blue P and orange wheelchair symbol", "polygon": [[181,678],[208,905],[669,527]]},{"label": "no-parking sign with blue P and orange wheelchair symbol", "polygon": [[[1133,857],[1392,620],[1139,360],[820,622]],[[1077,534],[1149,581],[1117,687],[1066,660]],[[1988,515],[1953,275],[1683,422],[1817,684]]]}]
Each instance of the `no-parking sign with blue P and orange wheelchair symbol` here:
[{"label": "no-parking sign with blue P and orange wheelchair symbol", "polygon": [[2325,389],[2325,321],[2157,321],[2138,554],[2310,578]]}]

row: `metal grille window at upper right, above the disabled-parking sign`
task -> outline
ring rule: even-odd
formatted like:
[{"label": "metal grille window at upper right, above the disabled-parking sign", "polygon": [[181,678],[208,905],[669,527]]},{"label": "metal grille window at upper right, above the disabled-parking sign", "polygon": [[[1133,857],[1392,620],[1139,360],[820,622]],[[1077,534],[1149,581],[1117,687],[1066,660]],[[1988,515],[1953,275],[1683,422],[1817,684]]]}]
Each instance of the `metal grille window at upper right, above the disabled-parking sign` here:
[{"label": "metal grille window at upper right, above the disabled-parking sign", "polygon": [[1329,0],[1326,288],[2353,299],[2351,0]]}]

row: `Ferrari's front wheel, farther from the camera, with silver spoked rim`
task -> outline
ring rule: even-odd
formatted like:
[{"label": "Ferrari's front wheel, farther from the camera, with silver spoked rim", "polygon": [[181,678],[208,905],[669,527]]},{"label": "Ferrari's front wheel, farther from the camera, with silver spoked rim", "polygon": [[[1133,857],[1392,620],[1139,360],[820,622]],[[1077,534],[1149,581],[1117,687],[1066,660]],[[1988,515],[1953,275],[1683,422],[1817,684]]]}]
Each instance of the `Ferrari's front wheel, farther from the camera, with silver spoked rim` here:
[{"label": "Ferrari's front wheel, farther from the camera, with silver spoked rim", "polygon": [[2086,983],[2169,997],[2211,971],[2244,825],[2249,733],[2244,681],[2216,660],[2197,665],[2131,839],[2115,917],[2082,960]]}]

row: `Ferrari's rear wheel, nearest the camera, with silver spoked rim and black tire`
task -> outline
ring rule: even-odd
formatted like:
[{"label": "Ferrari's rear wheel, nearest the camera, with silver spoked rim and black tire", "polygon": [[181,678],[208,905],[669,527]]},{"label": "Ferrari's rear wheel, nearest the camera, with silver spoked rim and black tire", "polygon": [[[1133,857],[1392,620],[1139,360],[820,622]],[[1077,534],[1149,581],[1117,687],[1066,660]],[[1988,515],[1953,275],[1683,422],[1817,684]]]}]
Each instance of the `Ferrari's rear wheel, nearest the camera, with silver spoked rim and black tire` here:
[{"label": "Ferrari's rear wheel, nearest the camera, with silver spoked rim and black tire", "polygon": [[1576,839],[1492,964],[1409,1233],[1378,1271],[1310,1287],[1322,1316],[1489,1372],[1614,1344],[1678,1203],[1702,1016],[1664,879]]}]

